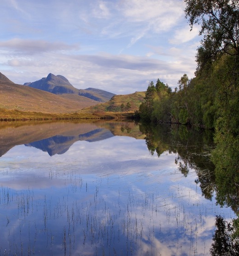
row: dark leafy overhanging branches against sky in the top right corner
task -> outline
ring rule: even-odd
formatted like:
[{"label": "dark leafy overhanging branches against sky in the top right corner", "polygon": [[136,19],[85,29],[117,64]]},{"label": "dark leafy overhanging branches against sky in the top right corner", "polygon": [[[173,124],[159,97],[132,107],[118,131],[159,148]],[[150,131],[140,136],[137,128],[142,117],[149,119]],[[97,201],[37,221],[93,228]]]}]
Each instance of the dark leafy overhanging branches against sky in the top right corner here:
[{"label": "dark leafy overhanging branches against sky in the top right corner", "polygon": [[201,24],[204,35],[197,50],[197,71],[211,67],[223,54],[239,56],[239,1],[185,0],[185,17],[191,29]]}]

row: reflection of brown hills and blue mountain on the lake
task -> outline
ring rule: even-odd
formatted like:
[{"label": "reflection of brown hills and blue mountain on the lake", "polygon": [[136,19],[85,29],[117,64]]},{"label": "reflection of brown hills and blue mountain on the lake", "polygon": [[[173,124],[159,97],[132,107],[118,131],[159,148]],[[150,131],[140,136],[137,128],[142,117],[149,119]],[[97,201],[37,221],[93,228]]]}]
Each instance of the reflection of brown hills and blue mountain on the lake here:
[{"label": "reflection of brown hills and blue mountain on the lake", "polygon": [[[115,135],[141,137],[134,122],[2,122],[0,156],[16,145],[64,154],[76,141],[96,142]],[[142,138],[143,138],[142,137]]]}]

